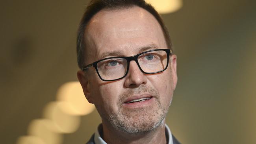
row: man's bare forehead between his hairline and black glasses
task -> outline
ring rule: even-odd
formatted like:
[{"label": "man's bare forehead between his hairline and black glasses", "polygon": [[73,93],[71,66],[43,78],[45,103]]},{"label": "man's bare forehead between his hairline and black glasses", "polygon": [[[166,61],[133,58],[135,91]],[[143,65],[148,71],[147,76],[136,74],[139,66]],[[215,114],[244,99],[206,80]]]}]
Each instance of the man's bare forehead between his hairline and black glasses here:
[{"label": "man's bare forehead between his hairline and black glasses", "polygon": [[85,60],[89,63],[113,51],[129,56],[148,45],[166,48],[163,31],[156,18],[137,6],[103,9],[96,13],[85,30],[85,44]]}]

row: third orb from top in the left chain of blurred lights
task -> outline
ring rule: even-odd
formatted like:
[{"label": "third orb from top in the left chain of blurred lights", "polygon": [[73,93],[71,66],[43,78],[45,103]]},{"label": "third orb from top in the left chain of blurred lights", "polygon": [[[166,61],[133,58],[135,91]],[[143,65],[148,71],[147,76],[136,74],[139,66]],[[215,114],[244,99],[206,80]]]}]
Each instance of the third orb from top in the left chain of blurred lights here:
[{"label": "third orb from top in the left chain of blurred lights", "polygon": [[[34,137],[41,138],[45,144],[61,144],[62,137],[58,133],[52,131],[54,127],[51,120],[36,119],[33,120],[28,127],[28,134]],[[36,138],[30,138],[29,140],[37,140]],[[33,143],[37,144],[37,143]],[[41,143],[39,143],[41,144]]]}]

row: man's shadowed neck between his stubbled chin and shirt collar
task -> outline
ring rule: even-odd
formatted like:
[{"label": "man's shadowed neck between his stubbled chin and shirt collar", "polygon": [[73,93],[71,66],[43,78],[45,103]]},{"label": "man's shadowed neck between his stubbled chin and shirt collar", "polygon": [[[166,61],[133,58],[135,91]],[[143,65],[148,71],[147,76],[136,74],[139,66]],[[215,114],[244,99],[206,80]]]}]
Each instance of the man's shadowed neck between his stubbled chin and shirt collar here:
[{"label": "man's shadowed neck between his stubbled chin and shirt collar", "polygon": [[165,125],[162,124],[156,129],[147,133],[130,134],[110,127],[104,122],[103,139],[108,144],[166,144]]}]

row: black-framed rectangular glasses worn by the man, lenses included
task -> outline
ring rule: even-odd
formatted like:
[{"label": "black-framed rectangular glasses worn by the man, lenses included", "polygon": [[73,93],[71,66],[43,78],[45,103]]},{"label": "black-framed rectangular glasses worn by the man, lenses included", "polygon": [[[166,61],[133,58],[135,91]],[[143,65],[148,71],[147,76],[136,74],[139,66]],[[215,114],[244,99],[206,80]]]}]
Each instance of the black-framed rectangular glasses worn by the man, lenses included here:
[{"label": "black-framed rectangular glasses worn by the man, lenses included", "polygon": [[94,67],[102,81],[115,81],[128,74],[130,61],[135,61],[141,72],[156,74],[166,70],[169,63],[170,49],[155,49],[130,57],[108,57],[85,66],[82,70]]}]

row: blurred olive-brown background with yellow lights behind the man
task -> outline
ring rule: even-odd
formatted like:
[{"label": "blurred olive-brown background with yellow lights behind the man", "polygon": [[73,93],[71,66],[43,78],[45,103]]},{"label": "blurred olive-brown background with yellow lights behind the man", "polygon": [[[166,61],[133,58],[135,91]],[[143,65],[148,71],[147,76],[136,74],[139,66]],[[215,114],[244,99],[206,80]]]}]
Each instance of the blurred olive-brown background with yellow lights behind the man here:
[{"label": "blurred olive-brown background with yellow lights behind the man", "polygon": [[[74,94],[87,3],[1,2],[0,143],[84,144],[96,130],[97,111]],[[184,144],[256,144],[256,1],[183,0],[162,17],[178,55],[172,133]]]}]

